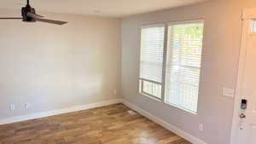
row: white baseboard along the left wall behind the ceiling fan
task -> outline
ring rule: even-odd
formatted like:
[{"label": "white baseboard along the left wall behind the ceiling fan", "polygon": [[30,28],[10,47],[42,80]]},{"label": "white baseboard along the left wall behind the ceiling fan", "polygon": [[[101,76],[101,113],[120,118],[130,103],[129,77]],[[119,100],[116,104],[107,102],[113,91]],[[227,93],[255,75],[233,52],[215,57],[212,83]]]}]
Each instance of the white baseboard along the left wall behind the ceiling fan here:
[{"label": "white baseboard along the left wall behind the ceiling fan", "polygon": [[76,112],[76,111],[86,110],[90,108],[104,107],[104,106],[121,103],[121,102],[122,102],[122,99],[115,99],[115,100],[96,102],[96,103],[91,103],[86,105],[75,106],[75,107],[67,107],[67,108],[57,109],[57,110],[48,111],[48,112],[38,112],[38,113],[32,113],[32,114],[22,115],[18,117],[13,117],[13,118],[5,118],[5,119],[0,119],[0,125],[11,124],[11,123],[31,120],[35,118],[44,118],[44,117],[54,116],[57,114],[62,114],[67,112]]}]

